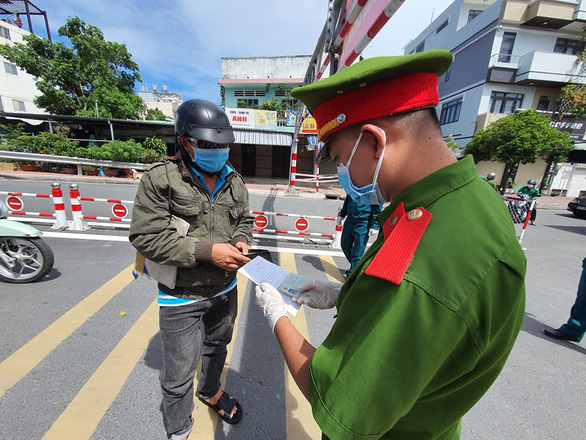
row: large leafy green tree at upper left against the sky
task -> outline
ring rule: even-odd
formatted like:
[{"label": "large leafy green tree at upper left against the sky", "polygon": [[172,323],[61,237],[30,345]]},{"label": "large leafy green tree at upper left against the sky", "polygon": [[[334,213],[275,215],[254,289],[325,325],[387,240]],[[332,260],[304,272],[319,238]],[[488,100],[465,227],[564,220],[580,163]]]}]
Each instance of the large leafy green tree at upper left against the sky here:
[{"label": "large leafy green tree at upper left against the sky", "polygon": [[121,43],[106,41],[100,29],[69,17],[59,35],[71,47],[34,34],[25,43],[0,44],[0,55],[35,76],[35,104],[52,114],[139,119],[146,107],[134,93],[138,65]]}]

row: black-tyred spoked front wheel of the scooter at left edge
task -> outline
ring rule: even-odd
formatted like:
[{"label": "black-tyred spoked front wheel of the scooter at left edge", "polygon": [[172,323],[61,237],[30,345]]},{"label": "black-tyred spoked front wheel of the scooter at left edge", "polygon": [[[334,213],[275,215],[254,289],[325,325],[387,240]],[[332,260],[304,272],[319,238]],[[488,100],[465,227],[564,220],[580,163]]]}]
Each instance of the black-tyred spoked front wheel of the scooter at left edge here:
[{"label": "black-tyred spoked front wheel of the scooter at left edge", "polygon": [[0,281],[32,283],[53,268],[53,251],[40,237],[0,238]]}]

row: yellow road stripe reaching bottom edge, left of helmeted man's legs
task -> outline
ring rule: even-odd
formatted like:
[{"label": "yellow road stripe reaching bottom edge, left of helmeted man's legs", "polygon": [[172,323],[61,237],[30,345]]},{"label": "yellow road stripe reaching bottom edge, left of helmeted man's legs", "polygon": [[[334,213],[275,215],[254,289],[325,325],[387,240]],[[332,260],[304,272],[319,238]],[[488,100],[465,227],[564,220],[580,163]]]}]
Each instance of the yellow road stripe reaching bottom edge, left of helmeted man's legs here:
[{"label": "yellow road stripe reaching bottom edge, left of helmeted man's legs", "polygon": [[61,413],[43,440],[71,438],[72,435],[78,440],[91,437],[157,333],[158,312],[155,300]]}]

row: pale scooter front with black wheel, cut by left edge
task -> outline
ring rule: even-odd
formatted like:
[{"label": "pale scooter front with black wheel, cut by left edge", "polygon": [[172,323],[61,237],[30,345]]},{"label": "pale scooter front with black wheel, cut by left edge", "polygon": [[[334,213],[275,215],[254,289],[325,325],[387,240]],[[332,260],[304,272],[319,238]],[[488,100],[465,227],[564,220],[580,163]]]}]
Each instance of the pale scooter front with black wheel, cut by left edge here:
[{"label": "pale scooter front with black wheel, cut by left edge", "polygon": [[8,207],[0,200],[0,281],[37,281],[53,268],[53,251],[41,231],[7,217]]}]

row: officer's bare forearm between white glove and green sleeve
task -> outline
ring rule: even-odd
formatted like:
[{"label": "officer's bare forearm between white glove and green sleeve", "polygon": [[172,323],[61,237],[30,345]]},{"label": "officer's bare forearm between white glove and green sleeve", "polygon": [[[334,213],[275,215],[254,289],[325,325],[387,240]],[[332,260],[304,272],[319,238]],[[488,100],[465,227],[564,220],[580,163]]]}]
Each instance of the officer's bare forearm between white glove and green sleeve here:
[{"label": "officer's bare forearm between white glove and green sleeve", "polygon": [[279,340],[291,376],[305,398],[309,400],[309,364],[315,353],[315,347],[307,342],[286,317],[282,317],[275,324],[275,336]]}]

